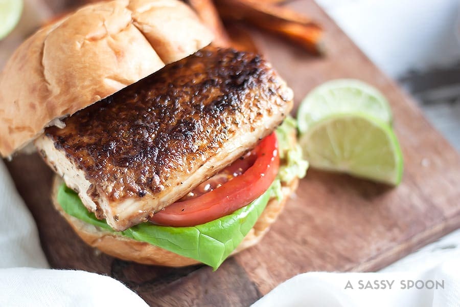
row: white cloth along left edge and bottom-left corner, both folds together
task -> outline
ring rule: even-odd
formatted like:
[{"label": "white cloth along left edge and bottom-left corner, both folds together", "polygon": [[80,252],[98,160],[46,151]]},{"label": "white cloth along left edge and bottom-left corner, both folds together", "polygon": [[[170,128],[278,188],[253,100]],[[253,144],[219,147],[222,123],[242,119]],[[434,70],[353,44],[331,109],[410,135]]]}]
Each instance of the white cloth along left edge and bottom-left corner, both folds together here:
[{"label": "white cloth along left edge and bottom-left corner, both folds together", "polygon": [[32,215],[0,161],[0,306],[147,306],[120,281],[50,270]]}]

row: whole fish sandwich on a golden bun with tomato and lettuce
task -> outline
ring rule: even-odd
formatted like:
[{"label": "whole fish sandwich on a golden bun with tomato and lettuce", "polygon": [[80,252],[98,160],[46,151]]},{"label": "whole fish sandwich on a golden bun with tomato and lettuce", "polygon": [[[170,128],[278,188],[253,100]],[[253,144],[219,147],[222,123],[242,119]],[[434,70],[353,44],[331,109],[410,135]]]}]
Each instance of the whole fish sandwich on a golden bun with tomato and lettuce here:
[{"label": "whole fish sandwich on a golden bun with tomato and lettuce", "polygon": [[33,144],[51,199],[120,259],[217,269],[255,245],[305,175],[293,94],[257,54],[217,48],[176,0],[85,6],[0,75],[0,152]]}]

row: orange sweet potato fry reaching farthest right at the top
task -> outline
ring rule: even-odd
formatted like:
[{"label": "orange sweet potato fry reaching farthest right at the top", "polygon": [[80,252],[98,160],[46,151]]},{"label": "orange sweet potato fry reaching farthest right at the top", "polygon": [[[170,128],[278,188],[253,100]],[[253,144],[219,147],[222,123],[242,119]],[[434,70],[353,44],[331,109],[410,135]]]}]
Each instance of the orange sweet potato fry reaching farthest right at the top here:
[{"label": "orange sweet potato fry reaching farthest right at the top", "polygon": [[304,15],[257,0],[217,0],[216,6],[225,20],[246,21],[286,37],[313,54],[324,54],[323,29]]}]

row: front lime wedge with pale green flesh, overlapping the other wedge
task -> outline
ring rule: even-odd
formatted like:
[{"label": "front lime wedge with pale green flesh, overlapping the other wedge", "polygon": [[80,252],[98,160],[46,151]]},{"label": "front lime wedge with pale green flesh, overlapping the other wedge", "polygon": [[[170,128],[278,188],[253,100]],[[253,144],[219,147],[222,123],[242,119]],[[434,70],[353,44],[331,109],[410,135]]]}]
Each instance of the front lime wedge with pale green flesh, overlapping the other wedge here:
[{"label": "front lime wedge with pale green flesh, overlapping the other wedge", "polygon": [[392,128],[363,113],[335,114],[301,136],[304,157],[319,169],[390,185],[401,182],[403,159]]}]

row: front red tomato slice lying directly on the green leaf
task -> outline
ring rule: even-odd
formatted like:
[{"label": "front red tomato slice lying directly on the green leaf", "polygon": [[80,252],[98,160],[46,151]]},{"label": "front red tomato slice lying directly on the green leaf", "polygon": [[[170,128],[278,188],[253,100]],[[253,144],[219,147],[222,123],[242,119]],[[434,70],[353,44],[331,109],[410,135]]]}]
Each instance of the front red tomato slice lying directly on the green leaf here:
[{"label": "front red tomato slice lying directly on the green leaf", "polygon": [[[222,185],[216,185],[213,189],[204,191],[204,194],[199,192],[198,194],[201,195],[198,196],[195,194],[185,196],[184,201],[169,205],[153,214],[149,220],[155,224],[174,227],[196,226],[214,221],[248,205],[262,195],[277,176],[280,158],[275,134],[272,133],[263,139],[252,155],[253,158],[249,155],[242,160],[246,160],[247,164],[250,159],[255,159],[254,164],[246,165],[247,169],[243,173],[237,172],[239,169],[244,170],[244,165],[237,160],[223,172],[227,176],[227,181]],[[230,178],[228,173],[232,173]],[[197,189],[193,192],[195,191]]]}]

